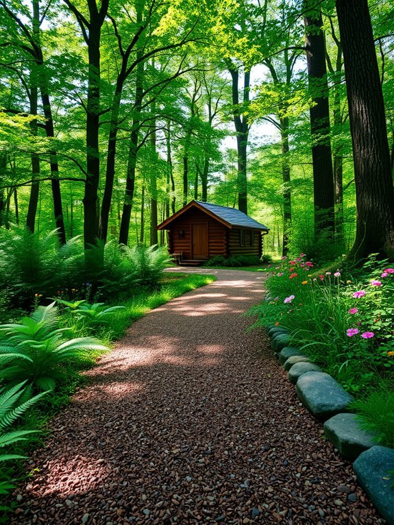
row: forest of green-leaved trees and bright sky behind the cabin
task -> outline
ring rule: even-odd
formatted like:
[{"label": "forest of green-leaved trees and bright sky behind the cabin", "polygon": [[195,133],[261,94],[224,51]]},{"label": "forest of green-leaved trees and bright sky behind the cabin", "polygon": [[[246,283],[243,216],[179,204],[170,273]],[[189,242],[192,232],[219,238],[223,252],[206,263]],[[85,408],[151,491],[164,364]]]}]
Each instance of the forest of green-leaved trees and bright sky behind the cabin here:
[{"label": "forest of green-leaved trees and bright sky behind the cabin", "polygon": [[[394,6],[369,12],[392,175]],[[334,1],[0,0],[2,228],[164,245],[199,199],[271,228],[266,253],[330,257],[355,186]]]}]

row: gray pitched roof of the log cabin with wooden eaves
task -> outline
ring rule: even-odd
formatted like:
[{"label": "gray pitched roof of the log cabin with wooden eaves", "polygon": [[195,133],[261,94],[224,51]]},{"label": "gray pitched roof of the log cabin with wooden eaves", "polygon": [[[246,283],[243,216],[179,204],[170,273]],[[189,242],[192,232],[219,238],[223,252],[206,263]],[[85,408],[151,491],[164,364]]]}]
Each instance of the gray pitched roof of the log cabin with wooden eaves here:
[{"label": "gray pitched roof of the log cabin with wooden eaves", "polygon": [[266,230],[269,231],[267,226],[255,221],[245,213],[237,210],[236,208],[227,208],[227,206],[219,206],[219,204],[210,204],[210,202],[191,201],[186,204],[184,208],[181,208],[174,215],[169,217],[166,221],[158,225],[158,230],[163,230],[169,225],[174,219],[180,217],[184,212],[190,210],[190,208],[198,208],[199,210],[206,212],[210,217],[217,219],[223,223],[227,228],[238,226],[240,228],[252,228],[254,230]]}]

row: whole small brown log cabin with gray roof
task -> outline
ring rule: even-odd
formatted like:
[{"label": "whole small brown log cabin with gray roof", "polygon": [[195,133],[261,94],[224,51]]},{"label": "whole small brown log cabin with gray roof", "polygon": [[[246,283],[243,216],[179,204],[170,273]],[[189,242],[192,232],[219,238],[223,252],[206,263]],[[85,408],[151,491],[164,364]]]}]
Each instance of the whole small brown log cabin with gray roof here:
[{"label": "whole small brown log cabin with gray roof", "polygon": [[177,262],[197,262],[215,255],[262,255],[269,228],[235,208],[192,201],[158,225],[169,230],[169,252]]}]

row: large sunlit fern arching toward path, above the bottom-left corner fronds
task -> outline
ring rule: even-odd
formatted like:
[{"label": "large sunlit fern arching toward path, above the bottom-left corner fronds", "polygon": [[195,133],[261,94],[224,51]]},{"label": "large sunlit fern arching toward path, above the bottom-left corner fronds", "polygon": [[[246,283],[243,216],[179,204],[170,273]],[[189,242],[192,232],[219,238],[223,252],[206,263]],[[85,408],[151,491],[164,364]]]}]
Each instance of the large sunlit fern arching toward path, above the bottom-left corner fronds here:
[{"label": "large sunlit fern arching toward path, above the bottom-left corner fronds", "polygon": [[79,359],[89,352],[108,350],[97,339],[68,340],[67,328],[58,328],[55,303],[40,306],[20,323],[0,326],[0,381],[27,380],[39,390],[52,390],[73,375]]}]

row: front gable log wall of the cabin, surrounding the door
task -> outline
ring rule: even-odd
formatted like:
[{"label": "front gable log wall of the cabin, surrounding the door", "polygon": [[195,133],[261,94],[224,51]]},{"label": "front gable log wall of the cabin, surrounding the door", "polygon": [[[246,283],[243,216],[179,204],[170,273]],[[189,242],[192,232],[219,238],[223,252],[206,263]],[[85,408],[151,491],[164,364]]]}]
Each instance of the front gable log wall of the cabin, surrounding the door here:
[{"label": "front gable log wall of the cabin, surrounding the door", "polygon": [[[193,258],[191,246],[193,224],[208,224],[208,250],[209,257],[214,255],[227,255],[227,231],[228,228],[219,221],[212,219],[206,213],[191,208],[175,219],[169,226],[169,251],[170,253],[182,252],[183,259]],[[183,232],[180,234],[180,232]]]}]

